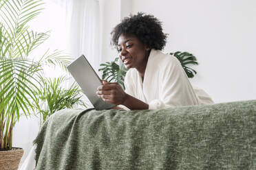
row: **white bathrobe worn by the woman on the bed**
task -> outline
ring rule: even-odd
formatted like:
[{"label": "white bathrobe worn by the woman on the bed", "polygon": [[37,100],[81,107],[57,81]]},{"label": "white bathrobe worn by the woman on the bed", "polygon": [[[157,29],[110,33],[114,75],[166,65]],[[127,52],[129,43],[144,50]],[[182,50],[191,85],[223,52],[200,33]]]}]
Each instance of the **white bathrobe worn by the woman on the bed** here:
[{"label": "white bathrobe worn by the woman on the bed", "polygon": [[203,90],[191,86],[177,58],[154,49],[143,82],[136,69],[127,71],[125,92],[149,104],[149,109],[213,103]]}]

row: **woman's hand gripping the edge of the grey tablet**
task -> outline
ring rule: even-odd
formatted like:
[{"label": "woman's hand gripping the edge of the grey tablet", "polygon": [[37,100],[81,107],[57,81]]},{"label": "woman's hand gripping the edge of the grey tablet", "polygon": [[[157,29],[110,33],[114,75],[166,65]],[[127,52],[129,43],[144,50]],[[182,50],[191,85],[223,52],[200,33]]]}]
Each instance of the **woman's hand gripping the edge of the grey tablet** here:
[{"label": "woman's hand gripping the edge of the grey tablet", "polygon": [[98,86],[96,94],[109,104],[123,104],[127,98],[127,94],[118,83],[106,82]]}]

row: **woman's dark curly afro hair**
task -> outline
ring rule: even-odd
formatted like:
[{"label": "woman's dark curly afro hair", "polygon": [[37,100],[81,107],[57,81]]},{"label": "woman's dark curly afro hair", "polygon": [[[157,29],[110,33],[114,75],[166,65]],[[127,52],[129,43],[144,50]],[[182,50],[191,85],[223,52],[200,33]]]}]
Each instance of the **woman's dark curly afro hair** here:
[{"label": "woman's dark curly afro hair", "polygon": [[121,34],[135,35],[149,49],[162,50],[167,42],[167,34],[162,32],[162,23],[155,16],[138,12],[125,17],[111,32],[111,45],[117,48]]}]

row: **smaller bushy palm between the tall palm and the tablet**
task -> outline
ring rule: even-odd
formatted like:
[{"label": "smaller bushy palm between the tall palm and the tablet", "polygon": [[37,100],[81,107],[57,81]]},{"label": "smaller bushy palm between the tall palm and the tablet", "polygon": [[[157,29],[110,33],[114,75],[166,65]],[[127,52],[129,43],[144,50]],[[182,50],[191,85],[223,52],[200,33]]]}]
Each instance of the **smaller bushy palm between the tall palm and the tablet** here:
[{"label": "smaller bushy palm between the tall palm and the tablet", "polygon": [[66,80],[65,76],[55,78],[41,77],[43,86],[39,90],[34,106],[36,113],[41,118],[41,125],[58,110],[74,107],[86,108],[85,102],[81,99],[82,91],[77,84],[73,83],[70,88],[63,88],[63,82]]}]

